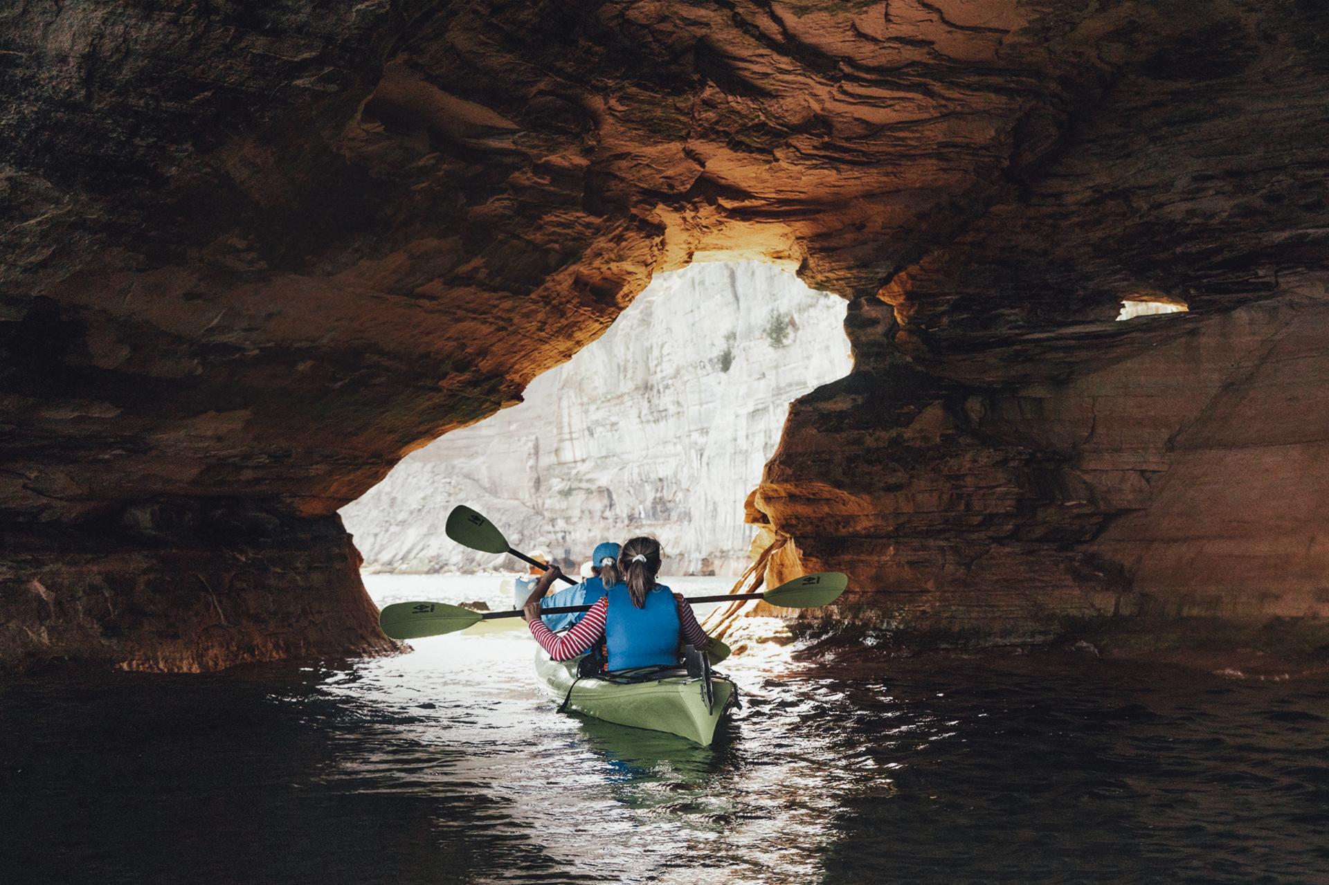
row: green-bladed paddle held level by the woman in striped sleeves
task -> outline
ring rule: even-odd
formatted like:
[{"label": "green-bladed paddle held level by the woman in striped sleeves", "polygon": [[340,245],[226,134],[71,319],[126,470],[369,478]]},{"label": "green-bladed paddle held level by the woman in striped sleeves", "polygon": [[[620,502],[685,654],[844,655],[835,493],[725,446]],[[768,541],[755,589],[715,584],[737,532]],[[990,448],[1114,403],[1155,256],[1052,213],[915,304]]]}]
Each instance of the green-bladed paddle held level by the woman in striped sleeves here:
[{"label": "green-bladed paddle held level by the woman in striped sleeves", "polygon": [[[460,509],[462,508],[457,508],[457,510]],[[457,510],[453,510],[453,514]],[[476,513],[476,516],[480,514]],[[451,517],[448,518],[448,524],[452,524]],[[497,533],[497,529],[494,532]],[[451,530],[448,536],[453,537]],[[502,536],[498,536],[498,538],[501,540]],[[489,551],[502,553],[502,550]],[[764,599],[772,606],[781,609],[816,609],[817,606],[828,606],[839,599],[840,594],[848,586],[848,575],[840,571],[817,571],[787,581],[766,593],[724,593],[716,597],[688,597],[684,602],[696,605],[699,602]],[[590,611],[590,606],[553,606],[541,609],[544,614],[567,614],[570,611]],[[424,637],[441,637],[447,633],[465,630],[481,621],[520,618],[521,614],[521,609],[513,609],[512,611],[472,611],[461,606],[449,606],[445,602],[396,602],[379,613],[379,629],[393,639],[423,639]],[[719,640],[712,639],[711,642],[715,643]]]}]

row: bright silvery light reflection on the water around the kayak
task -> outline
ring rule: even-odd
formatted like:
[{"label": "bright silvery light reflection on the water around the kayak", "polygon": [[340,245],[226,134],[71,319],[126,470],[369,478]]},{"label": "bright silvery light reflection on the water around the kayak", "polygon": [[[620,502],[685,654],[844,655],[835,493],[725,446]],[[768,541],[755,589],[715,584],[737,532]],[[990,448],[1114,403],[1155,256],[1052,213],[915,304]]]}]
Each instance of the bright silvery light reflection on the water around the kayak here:
[{"label": "bright silvery light reflection on the water around the kayak", "polygon": [[[763,670],[731,668],[743,706],[703,748],[553,712],[536,690],[534,646],[521,633],[416,646],[409,656],[322,679],[320,692],[355,719],[379,730],[391,722],[391,734],[376,735],[376,752],[328,777],[392,780],[397,788],[407,779],[419,788],[420,768],[435,752],[460,752],[444,775],[432,773],[453,788],[509,800],[489,832],[532,840],[565,881],[672,881],[674,866],[678,881],[694,882],[743,881],[759,869],[769,874],[772,865],[785,877],[815,874],[843,792],[835,784],[849,783],[855,756],[820,727],[795,736],[779,723],[824,715],[824,692],[791,708],[781,682]],[[367,738],[360,731],[358,741]]]}]

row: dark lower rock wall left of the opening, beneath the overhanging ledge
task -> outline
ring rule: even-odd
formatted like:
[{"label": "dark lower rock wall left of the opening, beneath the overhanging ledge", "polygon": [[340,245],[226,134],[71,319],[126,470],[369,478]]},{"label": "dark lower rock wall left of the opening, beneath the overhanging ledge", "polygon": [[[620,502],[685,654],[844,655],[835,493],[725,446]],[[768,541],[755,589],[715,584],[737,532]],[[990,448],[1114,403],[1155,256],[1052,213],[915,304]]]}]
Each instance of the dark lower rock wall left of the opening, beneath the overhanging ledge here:
[{"label": "dark lower rock wall left of the opening, beneath the overhanging ledge", "polygon": [[335,516],[144,502],[116,521],[45,526],[24,541],[5,549],[0,594],[11,667],[199,671],[397,648],[377,630],[360,555]]}]

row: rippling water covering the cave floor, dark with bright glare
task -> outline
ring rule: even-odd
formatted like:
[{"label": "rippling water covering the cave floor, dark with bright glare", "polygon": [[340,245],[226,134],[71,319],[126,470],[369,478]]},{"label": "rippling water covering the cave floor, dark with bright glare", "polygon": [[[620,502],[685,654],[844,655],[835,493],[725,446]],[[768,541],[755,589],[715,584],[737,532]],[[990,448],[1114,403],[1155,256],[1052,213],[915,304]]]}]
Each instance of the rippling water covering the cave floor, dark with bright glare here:
[{"label": "rippling water covering the cave floor, dark with bright glare", "polygon": [[4,684],[0,881],[1329,882],[1325,684],[766,658],[702,749],[556,714],[521,631],[416,647]]}]

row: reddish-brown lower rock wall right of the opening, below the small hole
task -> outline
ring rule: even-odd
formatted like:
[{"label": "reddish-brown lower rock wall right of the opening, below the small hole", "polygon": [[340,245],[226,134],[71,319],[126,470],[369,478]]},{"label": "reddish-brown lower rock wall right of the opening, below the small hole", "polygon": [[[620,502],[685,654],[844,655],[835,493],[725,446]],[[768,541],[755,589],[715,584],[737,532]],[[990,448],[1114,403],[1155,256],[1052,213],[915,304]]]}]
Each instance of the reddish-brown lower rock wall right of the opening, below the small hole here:
[{"label": "reddish-brown lower rock wall right of the opening, below the small hole", "polygon": [[[897,638],[1320,618],[1329,473],[1308,415],[1329,381],[1326,310],[1304,298],[1084,327],[1080,347],[1120,359],[1010,388],[906,360],[851,376],[795,404],[755,518],[796,538],[796,567],[861,575],[873,590],[847,607]],[[863,481],[804,484],[836,473]]]}]

